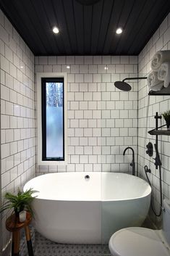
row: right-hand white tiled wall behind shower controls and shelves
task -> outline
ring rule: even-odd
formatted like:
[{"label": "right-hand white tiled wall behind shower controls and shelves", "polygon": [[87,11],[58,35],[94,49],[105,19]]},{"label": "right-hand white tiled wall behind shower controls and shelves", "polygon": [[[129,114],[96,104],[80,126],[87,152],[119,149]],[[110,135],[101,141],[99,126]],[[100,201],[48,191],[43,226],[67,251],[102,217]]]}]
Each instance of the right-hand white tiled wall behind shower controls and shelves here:
[{"label": "right-hand white tiled wall behind shower controls and shelves", "polygon": [[[156,30],[156,33],[150,38],[143,51],[138,57],[139,76],[147,76],[150,72],[150,62],[156,51],[170,50],[170,14],[163,20],[162,24]],[[155,128],[154,115],[156,112],[160,115],[166,110],[170,110],[170,96],[148,96],[148,86],[146,81],[139,83],[139,137],[138,137],[138,169],[140,176],[145,178],[144,166],[148,165],[152,174],[149,174],[150,181],[153,185],[154,205],[158,212],[160,207],[160,188],[159,173],[153,164],[153,157],[148,157],[145,153],[146,144],[148,142],[155,143],[156,136],[150,136],[148,131]],[[163,125],[163,120],[158,121],[159,125]],[[163,181],[163,197],[170,198],[170,137],[158,136],[158,150],[161,154],[162,162],[162,181]]]}]

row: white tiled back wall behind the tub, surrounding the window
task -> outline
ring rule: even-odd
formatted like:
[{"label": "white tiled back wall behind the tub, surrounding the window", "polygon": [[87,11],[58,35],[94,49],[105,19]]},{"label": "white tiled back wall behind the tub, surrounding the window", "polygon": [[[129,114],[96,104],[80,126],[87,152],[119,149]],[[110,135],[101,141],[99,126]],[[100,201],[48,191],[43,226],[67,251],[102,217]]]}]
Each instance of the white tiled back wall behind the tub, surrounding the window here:
[{"label": "white tiled back wall behind the tub, surrounding the window", "polygon": [[35,57],[38,72],[67,73],[68,165],[38,166],[36,175],[131,171],[132,154],[122,153],[133,146],[137,160],[137,83],[124,92],[114,81],[137,76],[137,57]]}]

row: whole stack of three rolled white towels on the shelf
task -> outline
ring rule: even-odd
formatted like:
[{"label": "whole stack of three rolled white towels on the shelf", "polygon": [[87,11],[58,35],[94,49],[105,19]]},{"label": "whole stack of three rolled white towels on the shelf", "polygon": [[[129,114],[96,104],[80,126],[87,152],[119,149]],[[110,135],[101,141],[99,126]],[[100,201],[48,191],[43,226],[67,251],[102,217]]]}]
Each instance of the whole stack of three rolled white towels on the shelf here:
[{"label": "whole stack of three rolled white towels on the shelf", "polygon": [[163,86],[168,87],[170,84],[170,51],[157,51],[151,61],[151,69],[148,75],[150,90],[160,91]]}]

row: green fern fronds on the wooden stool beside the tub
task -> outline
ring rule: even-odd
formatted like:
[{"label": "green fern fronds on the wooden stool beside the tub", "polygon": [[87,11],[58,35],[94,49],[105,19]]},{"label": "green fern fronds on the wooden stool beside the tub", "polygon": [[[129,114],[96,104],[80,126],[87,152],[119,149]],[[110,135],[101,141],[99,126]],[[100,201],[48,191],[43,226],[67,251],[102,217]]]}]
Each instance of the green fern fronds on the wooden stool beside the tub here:
[{"label": "green fern fronds on the wooden stool beside the tub", "polygon": [[7,192],[4,196],[6,202],[1,206],[0,212],[13,209],[15,216],[19,217],[21,211],[27,210],[33,216],[33,209],[31,207],[31,202],[33,202],[34,199],[34,197],[32,197],[33,193],[35,193],[33,189],[28,189],[25,192],[18,189],[17,195]]}]

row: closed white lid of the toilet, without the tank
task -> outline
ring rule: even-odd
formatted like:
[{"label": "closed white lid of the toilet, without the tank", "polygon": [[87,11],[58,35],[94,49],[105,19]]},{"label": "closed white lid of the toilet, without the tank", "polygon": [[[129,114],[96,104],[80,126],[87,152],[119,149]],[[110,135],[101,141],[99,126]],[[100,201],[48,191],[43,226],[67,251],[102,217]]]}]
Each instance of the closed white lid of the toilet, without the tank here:
[{"label": "closed white lid of the toilet, without the tank", "polygon": [[123,228],[111,236],[109,249],[114,256],[169,256],[169,250],[155,231]]}]

